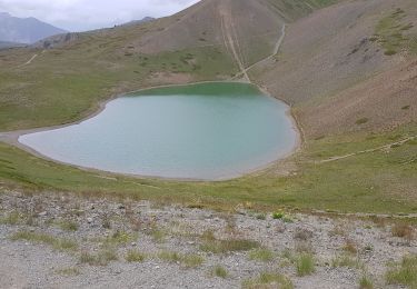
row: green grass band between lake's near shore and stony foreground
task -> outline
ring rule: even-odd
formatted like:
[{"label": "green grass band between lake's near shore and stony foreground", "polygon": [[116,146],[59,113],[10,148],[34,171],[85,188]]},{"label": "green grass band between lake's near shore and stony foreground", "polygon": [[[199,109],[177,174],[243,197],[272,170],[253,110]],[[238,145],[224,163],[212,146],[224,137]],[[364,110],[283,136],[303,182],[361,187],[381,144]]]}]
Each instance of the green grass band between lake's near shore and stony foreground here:
[{"label": "green grass band between lake's near shore and stony foreground", "polygon": [[[278,208],[321,209],[359,212],[417,212],[415,156],[409,141],[389,153],[376,151],[347,159],[314,163],[332,156],[379,147],[416,136],[417,126],[384,134],[355,134],[310,140],[292,157],[299,163],[297,176],[262,173],[221,182],[180,182],[133,179],[82,171],[36,158],[20,149],[0,143],[0,180],[26,191],[68,191],[87,197],[149,199],[200,208],[232,210],[250,202],[258,211]],[[103,175],[107,176],[107,175]]]}]

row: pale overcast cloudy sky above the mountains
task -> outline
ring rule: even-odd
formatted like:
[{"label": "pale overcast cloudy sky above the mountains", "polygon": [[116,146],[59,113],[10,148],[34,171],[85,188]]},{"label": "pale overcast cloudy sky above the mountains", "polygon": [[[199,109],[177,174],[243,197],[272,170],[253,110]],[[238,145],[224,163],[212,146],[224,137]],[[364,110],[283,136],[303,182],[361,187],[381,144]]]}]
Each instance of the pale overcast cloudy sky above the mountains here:
[{"label": "pale overcast cloudy sky above the mountains", "polygon": [[178,12],[199,0],[0,0],[0,11],[81,31]]}]

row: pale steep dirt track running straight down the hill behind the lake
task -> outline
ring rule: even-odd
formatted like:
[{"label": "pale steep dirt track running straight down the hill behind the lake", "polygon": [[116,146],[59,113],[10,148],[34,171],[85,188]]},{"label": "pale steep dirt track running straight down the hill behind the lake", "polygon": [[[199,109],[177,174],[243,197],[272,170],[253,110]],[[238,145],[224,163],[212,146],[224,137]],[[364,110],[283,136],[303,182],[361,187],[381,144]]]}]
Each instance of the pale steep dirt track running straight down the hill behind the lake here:
[{"label": "pale steep dirt track running straight down the hill behind the lake", "polygon": [[222,1],[219,4],[219,14],[221,20],[221,32],[225,40],[226,48],[231,52],[236,62],[239,66],[240,74],[244,76],[245,80],[250,82],[249,76],[246,72],[244,62],[242,62],[242,53],[239,46],[238,37],[235,29],[235,22],[231,14],[231,7],[230,1]]}]

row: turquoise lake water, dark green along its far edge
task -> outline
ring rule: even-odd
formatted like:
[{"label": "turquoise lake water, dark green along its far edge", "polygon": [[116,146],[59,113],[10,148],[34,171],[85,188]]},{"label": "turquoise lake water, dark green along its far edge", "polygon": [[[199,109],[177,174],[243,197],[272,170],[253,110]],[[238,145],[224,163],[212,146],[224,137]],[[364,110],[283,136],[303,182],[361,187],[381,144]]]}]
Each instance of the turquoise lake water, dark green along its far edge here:
[{"label": "turquoise lake water, dark green along its far edge", "polygon": [[79,124],[24,134],[39,153],[103,171],[217,180],[289,153],[288,107],[255,86],[210,82],[130,93]]}]

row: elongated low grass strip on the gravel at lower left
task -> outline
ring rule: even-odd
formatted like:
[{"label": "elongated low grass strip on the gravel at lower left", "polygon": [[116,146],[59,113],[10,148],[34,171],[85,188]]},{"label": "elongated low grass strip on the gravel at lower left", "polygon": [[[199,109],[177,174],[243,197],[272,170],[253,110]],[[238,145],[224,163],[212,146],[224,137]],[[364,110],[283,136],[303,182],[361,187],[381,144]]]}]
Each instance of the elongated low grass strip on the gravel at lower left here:
[{"label": "elongated low grass strip on the gravel at lower left", "polygon": [[48,233],[30,232],[23,230],[13,233],[10,239],[13,241],[26,240],[33,243],[44,243],[59,251],[76,251],[78,249],[78,243],[73,240],[57,238]]}]

